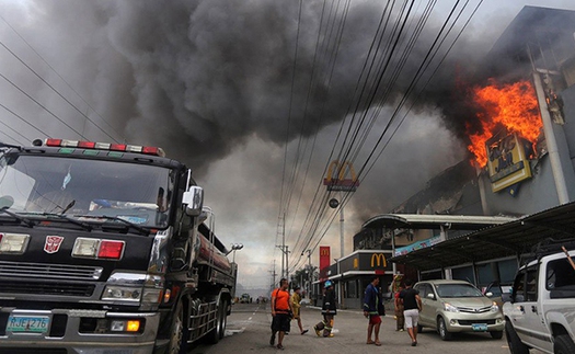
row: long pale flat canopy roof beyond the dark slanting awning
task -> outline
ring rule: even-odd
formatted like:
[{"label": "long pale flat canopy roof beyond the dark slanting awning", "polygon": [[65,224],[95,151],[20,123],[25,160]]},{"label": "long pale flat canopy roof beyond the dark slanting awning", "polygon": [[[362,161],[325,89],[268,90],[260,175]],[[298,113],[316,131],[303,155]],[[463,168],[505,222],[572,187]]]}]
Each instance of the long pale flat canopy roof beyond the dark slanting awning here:
[{"label": "long pale flat canopy roof beyond the dark slanting awning", "polygon": [[478,230],[516,219],[504,216],[382,214],[370,218],[361,227],[390,229],[440,229],[447,227],[456,230]]}]

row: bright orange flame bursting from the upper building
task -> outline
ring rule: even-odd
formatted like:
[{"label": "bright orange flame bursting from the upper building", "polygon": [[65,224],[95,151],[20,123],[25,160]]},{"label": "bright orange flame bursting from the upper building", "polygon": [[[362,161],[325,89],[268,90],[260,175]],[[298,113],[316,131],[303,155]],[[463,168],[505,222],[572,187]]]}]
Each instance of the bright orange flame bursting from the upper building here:
[{"label": "bright orange flame bursting from the upper building", "polygon": [[473,152],[480,165],[487,163],[485,141],[496,133],[495,129],[504,127],[508,134],[517,133],[531,142],[537,141],[543,123],[530,81],[499,85],[490,79],[487,87],[475,88],[472,94],[475,103],[483,109],[478,114],[483,132],[468,134],[471,140],[468,149]]}]

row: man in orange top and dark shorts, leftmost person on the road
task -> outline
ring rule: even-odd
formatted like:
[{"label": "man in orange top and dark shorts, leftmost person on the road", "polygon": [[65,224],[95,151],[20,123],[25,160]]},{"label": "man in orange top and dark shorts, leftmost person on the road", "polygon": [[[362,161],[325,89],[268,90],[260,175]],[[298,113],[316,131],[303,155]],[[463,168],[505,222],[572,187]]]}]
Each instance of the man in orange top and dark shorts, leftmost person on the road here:
[{"label": "man in orange top and dark shorts, leftmost person on the road", "polygon": [[284,350],[284,336],[289,332],[289,322],[291,321],[291,301],[289,300],[288,281],[281,278],[279,287],[272,292],[272,336],[269,345],[274,346],[277,336],[278,350]]}]

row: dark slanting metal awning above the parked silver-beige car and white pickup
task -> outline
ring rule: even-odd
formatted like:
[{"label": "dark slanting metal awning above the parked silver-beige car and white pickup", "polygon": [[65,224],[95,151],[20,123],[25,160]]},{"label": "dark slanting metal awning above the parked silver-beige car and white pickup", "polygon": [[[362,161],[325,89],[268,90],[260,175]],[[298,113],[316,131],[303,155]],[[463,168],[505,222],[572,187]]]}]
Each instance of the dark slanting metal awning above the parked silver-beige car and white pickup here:
[{"label": "dark slanting metal awning above the parked silver-beige car and white pickup", "polygon": [[529,253],[538,242],[575,238],[575,202],[448,239],[390,261],[419,271]]}]

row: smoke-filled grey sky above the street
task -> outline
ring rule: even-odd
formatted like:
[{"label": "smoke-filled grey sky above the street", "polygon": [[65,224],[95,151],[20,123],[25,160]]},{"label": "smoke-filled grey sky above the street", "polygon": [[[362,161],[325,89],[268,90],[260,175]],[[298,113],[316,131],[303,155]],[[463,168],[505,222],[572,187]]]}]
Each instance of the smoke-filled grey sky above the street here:
[{"label": "smoke-filled grey sky above the street", "polygon": [[[525,5],[575,10],[436,2],[0,0],[0,141],[162,147],[194,170],[222,242],[244,245],[239,283],[267,288],[284,240],[294,270],[317,266],[319,245],[340,256],[329,198],[344,205],[348,254],[364,221],[465,159],[473,114],[453,114],[458,84],[478,83],[481,58]],[[343,157],[360,185],[327,194],[326,168]]]}]

